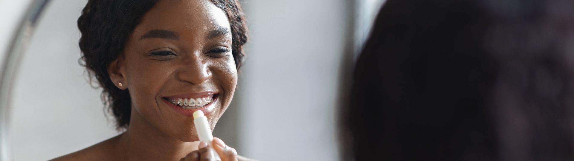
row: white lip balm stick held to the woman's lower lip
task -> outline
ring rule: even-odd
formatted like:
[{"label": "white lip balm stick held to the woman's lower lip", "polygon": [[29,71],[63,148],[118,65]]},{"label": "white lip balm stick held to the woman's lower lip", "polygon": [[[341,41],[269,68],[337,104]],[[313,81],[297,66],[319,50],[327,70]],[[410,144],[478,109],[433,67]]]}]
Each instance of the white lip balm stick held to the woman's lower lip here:
[{"label": "white lip balm stick held to the woman's lower lip", "polygon": [[[199,141],[205,142],[211,145],[211,141],[214,140],[214,136],[211,134],[210,124],[207,122],[207,117],[203,115],[203,111],[197,110],[193,112],[193,124],[195,124],[195,130],[197,131],[197,136],[199,137]],[[215,152],[215,159],[221,160],[219,158],[219,154]]]}]

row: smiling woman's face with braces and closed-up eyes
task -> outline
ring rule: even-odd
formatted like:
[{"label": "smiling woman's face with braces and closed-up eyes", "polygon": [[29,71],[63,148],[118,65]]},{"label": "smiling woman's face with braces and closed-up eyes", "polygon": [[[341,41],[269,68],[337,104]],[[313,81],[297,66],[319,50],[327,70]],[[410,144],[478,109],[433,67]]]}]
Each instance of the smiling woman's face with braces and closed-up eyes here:
[{"label": "smiling woman's face with braces and closed-up eyes", "polygon": [[213,129],[237,84],[231,42],[227,15],[211,1],[157,2],[126,42],[125,57],[118,58],[131,115],[184,142],[197,140],[197,110]]}]

